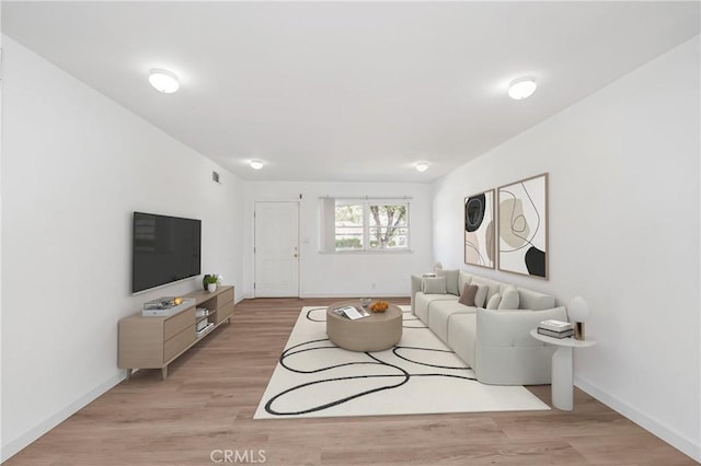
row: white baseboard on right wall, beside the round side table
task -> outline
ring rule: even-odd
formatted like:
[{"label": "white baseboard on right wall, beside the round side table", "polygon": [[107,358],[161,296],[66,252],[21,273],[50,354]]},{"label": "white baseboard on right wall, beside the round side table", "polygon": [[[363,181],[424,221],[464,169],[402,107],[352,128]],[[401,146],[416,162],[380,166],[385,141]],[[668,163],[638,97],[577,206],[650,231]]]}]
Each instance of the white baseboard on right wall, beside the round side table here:
[{"label": "white baseboard on right wall, beside the round side table", "polygon": [[[588,382],[582,380],[581,377],[574,377],[574,384],[583,392],[591,395],[594,398],[598,399],[609,408],[614,411],[621,413],[625,418],[635,422],[637,426],[642,427],[650,433],[658,436],[664,440],[675,448],[679,450],[685,455],[691,457],[698,463],[701,463],[701,444],[694,443],[692,440],[687,439],[679,432],[676,432],[673,429],[669,429],[664,423],[659,422],[657,419],[653,419],[650,416],[640,412],[635,408],[632,408],[628,404],[621,401],[618,398],[614,398],[596,386],[589,384]],[[698,440],[697,440],[698,442]]]}]

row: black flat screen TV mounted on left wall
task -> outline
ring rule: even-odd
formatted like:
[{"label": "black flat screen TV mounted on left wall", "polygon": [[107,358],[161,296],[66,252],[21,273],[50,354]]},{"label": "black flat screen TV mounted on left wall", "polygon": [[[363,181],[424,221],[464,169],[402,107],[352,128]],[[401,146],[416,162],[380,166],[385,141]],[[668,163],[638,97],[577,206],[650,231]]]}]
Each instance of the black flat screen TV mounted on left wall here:
[{"label": "black flat screen TV mounted on left wall", "polygon": [[134,212],[131,292],[200,272],[202,220]]}]

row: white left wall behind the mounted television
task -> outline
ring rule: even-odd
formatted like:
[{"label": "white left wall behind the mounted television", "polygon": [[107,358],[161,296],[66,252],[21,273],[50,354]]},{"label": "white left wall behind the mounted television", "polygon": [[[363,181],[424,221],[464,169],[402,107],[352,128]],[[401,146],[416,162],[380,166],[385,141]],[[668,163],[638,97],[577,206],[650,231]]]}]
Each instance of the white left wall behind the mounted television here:
[{"label": "white left wall behind the mounted television", "polygon": [[8,37],[3,61],[4,459],[120,381],[119,318],[202,286],[130,294],[131,211],[202,219],[203,272],[238,284],[243,184]]}]

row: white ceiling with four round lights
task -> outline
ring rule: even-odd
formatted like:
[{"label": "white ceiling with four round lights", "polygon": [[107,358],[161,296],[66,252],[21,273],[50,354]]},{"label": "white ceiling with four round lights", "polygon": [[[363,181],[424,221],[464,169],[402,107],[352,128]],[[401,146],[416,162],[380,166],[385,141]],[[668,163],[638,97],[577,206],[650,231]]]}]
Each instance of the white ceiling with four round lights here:
[{"label": "white ceiling with four round lights", "polygon": [[2,32],[241,178],[432,182],[699,34],[699,2],[3,1]]}]

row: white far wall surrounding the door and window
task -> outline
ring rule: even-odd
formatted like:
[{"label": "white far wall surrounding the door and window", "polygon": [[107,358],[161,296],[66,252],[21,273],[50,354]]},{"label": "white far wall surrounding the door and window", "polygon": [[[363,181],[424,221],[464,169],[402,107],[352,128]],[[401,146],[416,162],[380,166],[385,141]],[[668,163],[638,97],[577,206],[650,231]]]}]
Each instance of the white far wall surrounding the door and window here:
[{"label": "white far wall surrounding the door and window", "polygon": [[[299,199],[299,195],[302,199]],[[319,198],[412,197],[410,200],[411,253],[324,254],[319,249]],[[246,184],[245,268],[253,270],[253,208],[255,201],[300,202],[300,295],[407,296],[410,275],[430,270],[430,185],[420,183],[291,183]],[[253,295],[253,276],[245,282]],[[375,283],[375,288],[372,284]]]}]

